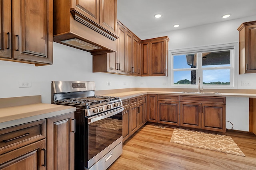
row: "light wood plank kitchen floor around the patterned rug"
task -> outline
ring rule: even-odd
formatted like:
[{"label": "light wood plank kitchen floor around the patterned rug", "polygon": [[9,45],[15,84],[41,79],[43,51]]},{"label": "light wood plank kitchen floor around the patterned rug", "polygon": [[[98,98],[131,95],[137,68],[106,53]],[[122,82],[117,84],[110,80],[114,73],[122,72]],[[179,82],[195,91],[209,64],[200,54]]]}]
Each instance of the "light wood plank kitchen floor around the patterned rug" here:
[{"label": "light wood plank kitchen floor around the patterned rug", "polygon": [[256,135],[227,132],[246,155],[170,143],[174,128],[147,124],[123,144],[108,170],[256,170]]}]

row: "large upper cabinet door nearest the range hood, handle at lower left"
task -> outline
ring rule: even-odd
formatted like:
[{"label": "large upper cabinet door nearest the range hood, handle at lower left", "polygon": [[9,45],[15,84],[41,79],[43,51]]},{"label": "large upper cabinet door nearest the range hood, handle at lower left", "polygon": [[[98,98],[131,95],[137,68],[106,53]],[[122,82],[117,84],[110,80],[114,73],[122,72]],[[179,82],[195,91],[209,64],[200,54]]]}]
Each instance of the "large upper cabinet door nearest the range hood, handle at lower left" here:
[{"label": "large upper cabinet door nearest the range hood, handle at lower left", "polygon": [[52,64],[52,8],[52,0],[12,1],[14,59]]}]

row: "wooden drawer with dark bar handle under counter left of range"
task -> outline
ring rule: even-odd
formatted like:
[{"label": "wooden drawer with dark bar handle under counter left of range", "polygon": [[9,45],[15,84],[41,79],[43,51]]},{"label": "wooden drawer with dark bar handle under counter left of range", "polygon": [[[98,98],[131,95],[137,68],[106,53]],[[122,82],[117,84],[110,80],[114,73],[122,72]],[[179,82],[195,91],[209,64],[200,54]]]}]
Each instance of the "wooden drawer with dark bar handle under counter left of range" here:
[{"label": "wooden drawer with dark bar handle under counter left of range", "polygon": [[46,119],[0,130],[0,154],[46,138]]}]

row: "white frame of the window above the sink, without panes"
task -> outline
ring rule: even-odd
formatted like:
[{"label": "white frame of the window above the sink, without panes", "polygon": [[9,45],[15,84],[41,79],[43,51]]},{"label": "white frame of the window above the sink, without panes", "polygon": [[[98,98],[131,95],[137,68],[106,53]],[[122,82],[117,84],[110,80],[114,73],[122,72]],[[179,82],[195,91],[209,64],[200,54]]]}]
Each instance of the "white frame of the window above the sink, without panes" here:
[{"label": "white frame of the window above the sink, without panes", "polygon": [[[230,66],[223,66],[223,67],[202,67],[202,53],[206,52],[214,52],[214,51],[227,51],[230,50]],[[174,63],[174,55],[185,55],[185,54],[197,54],[196,60],[197,65],[196,68],[182,68],[182,69],[174,69],[173,63]],[[238,70],[235,69],[237,67],[236,59],[238,60],[238,43],[226,43],[221,45],[211,45],[211,46],[202,46],[202,47],[194,47],[189,49],[176,49],[176,50],[170,50],[170,64],[169,64],[169,75],[170,75],[170,82],[171,86],[175,88],[198,88],[198,77],[200,76],[201,82],[203,78],[203,70],[216,70],[216,69],[230,69],[230,84],[229,85],[221,85],[221,84],[203,84],[200,83],[200,86],[202,88],[212,88],[212,89],[218,89],[218,88],[234,88],[235,80],[236,80],[236,74]],[[236,66],[236,67],[235,67]],[[185,70],[196,70],[196,84],[174,84],[174,71],[185,71]]]}]

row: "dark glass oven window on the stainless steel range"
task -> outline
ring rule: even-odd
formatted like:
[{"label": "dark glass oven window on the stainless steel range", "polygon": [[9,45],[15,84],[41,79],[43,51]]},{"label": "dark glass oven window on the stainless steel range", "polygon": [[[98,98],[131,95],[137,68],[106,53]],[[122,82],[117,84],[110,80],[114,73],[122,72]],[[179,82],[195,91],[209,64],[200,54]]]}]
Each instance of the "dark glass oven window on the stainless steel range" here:
[{"label": "dark glass oven window on the stainless steel range", "polygon": [[122,112],[88,125],[88,160],[122,136]]}]

